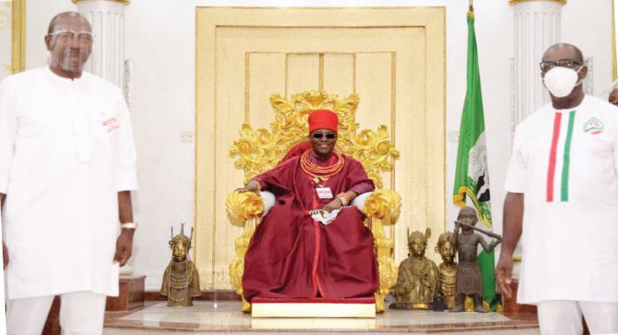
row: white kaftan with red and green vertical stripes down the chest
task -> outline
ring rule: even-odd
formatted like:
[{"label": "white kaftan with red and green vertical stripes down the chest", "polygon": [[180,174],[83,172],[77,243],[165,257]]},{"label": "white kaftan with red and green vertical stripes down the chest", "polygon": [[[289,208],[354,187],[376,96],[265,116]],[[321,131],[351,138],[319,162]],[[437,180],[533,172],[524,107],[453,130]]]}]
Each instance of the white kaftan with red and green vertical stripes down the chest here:
[{"label": "white kaftan with red and green vertical stripes down the chest", "polygon": [[531,114],[506,191],[524,193],[518,303],[618,302],[618,108],[586,96]]}]

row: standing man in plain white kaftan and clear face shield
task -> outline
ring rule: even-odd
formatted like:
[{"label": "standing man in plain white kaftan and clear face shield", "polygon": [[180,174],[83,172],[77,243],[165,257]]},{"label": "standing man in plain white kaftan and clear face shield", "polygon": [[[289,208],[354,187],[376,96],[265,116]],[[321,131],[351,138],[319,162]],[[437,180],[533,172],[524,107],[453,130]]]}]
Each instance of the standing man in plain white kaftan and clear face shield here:
[{"label": "standing man in plain white kaftan and clear face shield", "polygon": [[40,334],[54,295],[63,333],[100,334],[131,257],[131,120],[114,84],[82,72],[92,37],[79,13],[60,13],[44,37],[50,66],[0,85],[9,334]]}]

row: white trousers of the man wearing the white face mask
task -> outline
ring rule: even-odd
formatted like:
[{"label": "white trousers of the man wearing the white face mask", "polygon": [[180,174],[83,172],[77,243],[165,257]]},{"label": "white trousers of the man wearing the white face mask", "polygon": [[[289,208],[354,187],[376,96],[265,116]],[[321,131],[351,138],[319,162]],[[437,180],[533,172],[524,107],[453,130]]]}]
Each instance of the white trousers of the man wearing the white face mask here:
[{"label": "white trousers of the man wearing the white face mask", "polygon": [[618,302],[551,300],[536,309],[543,335],[581,335],[582,315],[590,334],[618,334]]}]

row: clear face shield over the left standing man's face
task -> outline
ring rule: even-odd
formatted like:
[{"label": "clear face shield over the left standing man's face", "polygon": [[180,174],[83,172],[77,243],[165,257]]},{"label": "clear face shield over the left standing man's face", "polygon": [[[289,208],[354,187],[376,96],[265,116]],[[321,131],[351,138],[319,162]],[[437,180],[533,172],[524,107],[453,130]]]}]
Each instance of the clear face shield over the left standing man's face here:
[{"label": "clear face shield over the left standing man's face", "polygon": [[50,67],[69,74],[81,74],[91,54],[93,35],[86,27],[57,25],[50,37]]}]

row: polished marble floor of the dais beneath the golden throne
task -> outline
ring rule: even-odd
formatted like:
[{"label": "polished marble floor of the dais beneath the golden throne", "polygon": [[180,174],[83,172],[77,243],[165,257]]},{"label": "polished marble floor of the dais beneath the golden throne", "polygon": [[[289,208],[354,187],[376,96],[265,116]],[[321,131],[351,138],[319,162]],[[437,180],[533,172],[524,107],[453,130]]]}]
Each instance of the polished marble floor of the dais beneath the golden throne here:
[{"label": "polished marble floor of the dais beneath the golden throne", "polygon": [[251,318],[240,301],[195,301],[191,308],[168,308],[151,301],[131,312],[107,312],[105,334],[178,333],[449,333],[538,334],[535,315],[389,310],[375,319]]}]

